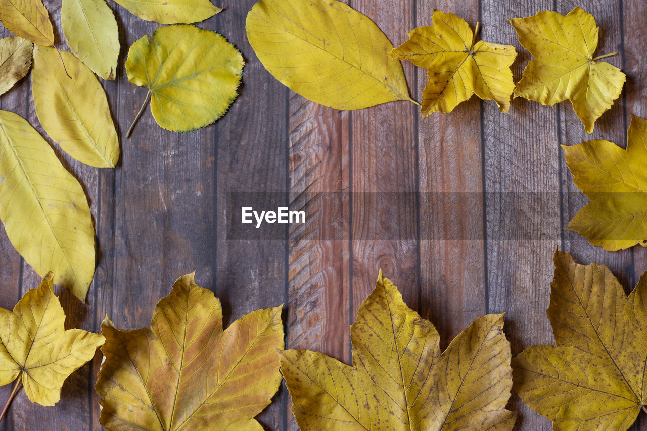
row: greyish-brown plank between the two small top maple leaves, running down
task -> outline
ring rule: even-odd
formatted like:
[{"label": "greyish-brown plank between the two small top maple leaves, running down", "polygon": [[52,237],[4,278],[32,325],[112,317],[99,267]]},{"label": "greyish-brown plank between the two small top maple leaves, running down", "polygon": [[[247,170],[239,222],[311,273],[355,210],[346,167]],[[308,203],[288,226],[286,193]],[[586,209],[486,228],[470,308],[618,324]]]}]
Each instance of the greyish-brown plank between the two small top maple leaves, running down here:
[{"label": "greyish-brown plank between the two small top maple leaves, running down", "polygon": [[[481,1],[480,39],[517,48],[516,81],[531,56],[507,19],[552,6],[552,1]],[[492,101],[482,107],[488,312],[507,312],[505,332],[516,355],[532,344],[553,342],[545,310],[560,238],[556,116],[554,108],[526,100],[514,100],[509,114]],[[511,398],[510,408],[518,412],[518,429],[551,429],[518,397]]]}]

